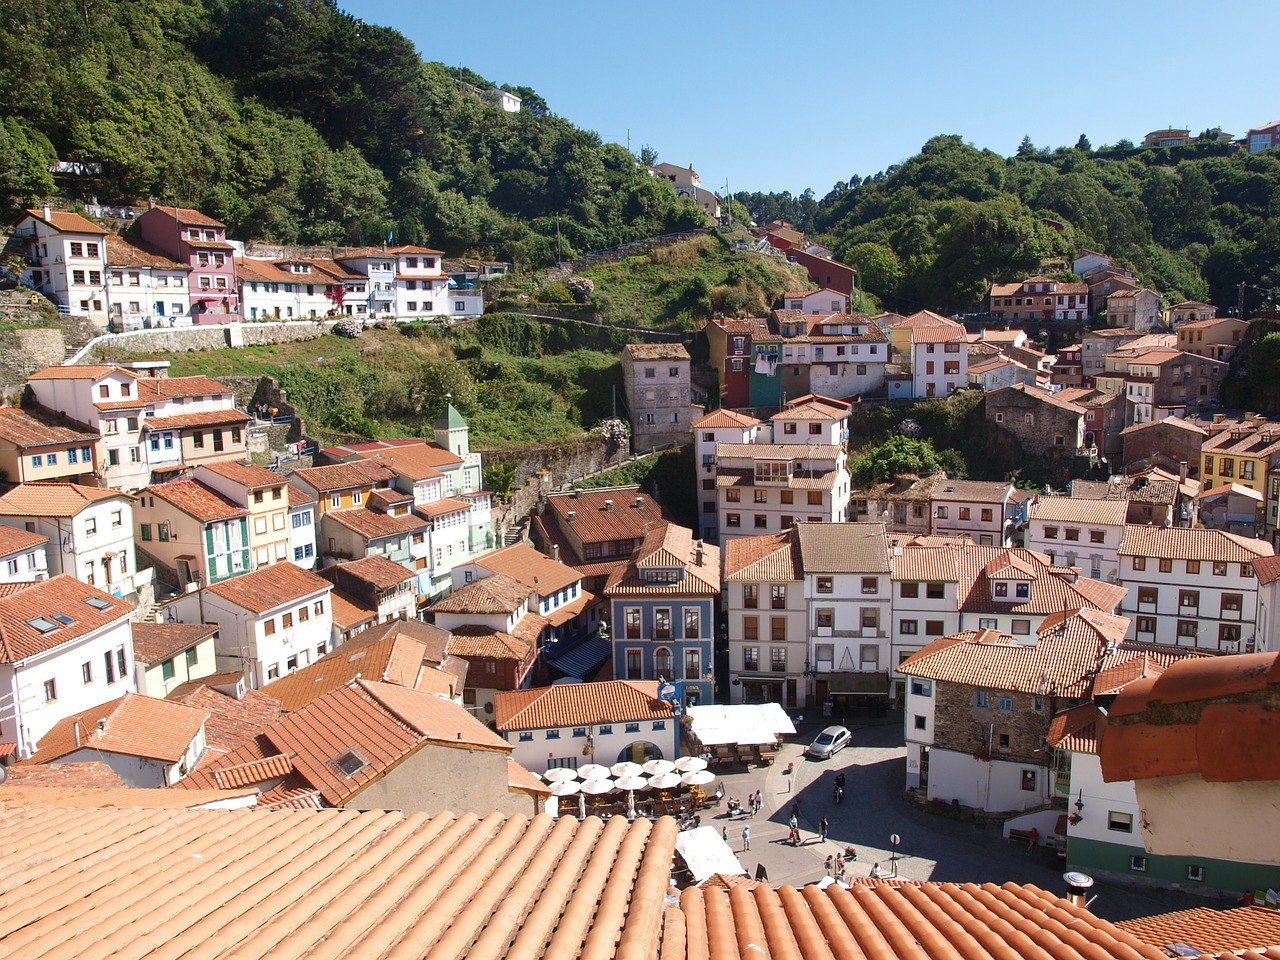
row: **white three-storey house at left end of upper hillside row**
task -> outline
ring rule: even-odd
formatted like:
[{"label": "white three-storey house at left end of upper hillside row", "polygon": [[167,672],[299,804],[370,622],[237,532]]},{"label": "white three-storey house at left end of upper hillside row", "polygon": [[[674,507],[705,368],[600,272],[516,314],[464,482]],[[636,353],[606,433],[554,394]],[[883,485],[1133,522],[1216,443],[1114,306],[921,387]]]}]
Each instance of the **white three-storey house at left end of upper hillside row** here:
[{"label": "white three-storey house at left end of upper hillside row", "polygon": [[49,297],[60,314],[106,324],[106,230],[45,206],[27,210],[13,237],[26,251],[23,285]]}]

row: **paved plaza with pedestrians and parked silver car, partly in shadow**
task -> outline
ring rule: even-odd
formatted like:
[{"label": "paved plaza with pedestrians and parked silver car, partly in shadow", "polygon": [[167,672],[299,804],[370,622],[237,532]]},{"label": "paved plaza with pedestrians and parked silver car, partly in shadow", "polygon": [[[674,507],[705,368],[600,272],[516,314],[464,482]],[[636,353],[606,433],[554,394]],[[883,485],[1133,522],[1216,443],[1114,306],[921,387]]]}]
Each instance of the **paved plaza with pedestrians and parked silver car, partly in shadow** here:
[{"label": "paved plaza with pedestrians and parked silver car, partly in shadow", "polygon": [[[902,745],[902,719],[897,712],[882,721],[849,723],[852,742],[831,760],[808,760],[804,746],[826,722],[797,722],[797,733],[782,746],[769,767],[735,771],[721,776],[724,796],[740,801],[762,791],[764,808],[758,817],[730,818],[724,801],[704,810],[703,826],[728,832],[730,847],[751,876],[763,864],[771,883],[803,886],[826,876],[828,856],[852,845],[858,859],[847,865],[849,877],[870,876],[878,863],[883,877],[918,881],[957,881],[1032,883],[1062,892],[1066,869],[1051,850],[1029,851],[1024,844],[1010,844],[998,824],[975,827],[946,817],[918,810],[902,799],[906,777],[906,750]],[[786,773],[787,765],[792,773]],[[836,774],[846,777],[845,801],[832,799]],[[792,805],[799,805],[801,844],[791,846],[788,820]],[[818,838],[818,820],[829,820],[826,841]],[[742,849],[742,828],[751,829],[751,849]],[[890,837],[901,844],[896,859]],[[1216,900],[1176,891],[1147,890],[1100,881],[1097,900],[1091,909],[1111,920],[1142,916],[1189,906],[1217,905]]]}]

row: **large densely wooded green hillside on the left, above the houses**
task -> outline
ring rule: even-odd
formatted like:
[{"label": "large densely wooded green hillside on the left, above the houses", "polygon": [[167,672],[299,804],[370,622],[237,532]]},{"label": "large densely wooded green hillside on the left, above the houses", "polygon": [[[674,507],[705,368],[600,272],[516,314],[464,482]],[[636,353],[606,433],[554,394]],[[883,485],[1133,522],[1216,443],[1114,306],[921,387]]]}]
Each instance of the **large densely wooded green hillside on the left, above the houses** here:
[{"label": "large densely wooded green hillside on the left, above the houses", "polygon": [[[447,32],[442,36],[447,36]],[[443,51],[424,50],[428,60]],[[233,236],[430,242],[541,265],[692,225],[690,201],[535,91],[424,61],[333,0],[26,0],[0,18],[0,211],[154,196]],[[51,160],[102,164],[56,184]]]}]

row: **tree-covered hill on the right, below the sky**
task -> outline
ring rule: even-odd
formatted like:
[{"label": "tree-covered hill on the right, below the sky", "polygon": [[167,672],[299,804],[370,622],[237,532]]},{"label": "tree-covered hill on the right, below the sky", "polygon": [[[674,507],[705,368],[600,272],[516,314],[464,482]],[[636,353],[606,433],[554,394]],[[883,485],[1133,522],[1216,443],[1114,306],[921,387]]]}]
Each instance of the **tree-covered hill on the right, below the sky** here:
[{"label": "tree-covered hill on the right, below the sky", "polygon": [[1080,250],[1108,253],[1166,297],[1224,311],[1239,283],[1251,310],[1280,288],[1280,151],[1251,156],[1210,137],[1164,150],[1024,141],[1006,159],[942,136],[822,200],[736,198],[762,223],[781,216],[826,241],[888,310],[974,310],[992,280],[1053,261],[1069,269]]}]

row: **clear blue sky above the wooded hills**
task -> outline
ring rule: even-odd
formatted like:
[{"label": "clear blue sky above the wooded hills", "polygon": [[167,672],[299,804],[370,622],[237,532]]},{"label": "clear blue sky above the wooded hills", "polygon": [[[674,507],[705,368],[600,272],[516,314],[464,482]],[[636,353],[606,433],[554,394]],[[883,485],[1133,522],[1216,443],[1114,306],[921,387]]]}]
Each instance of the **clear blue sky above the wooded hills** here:
[{"label": "clear blue sky above the wooded hills", "polygon": [[938,133],[1007,156],[1280,119],[1275,0],[339,5],[714,189],[822,197]]}]

